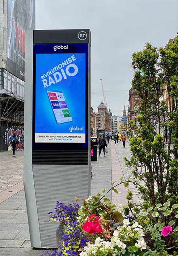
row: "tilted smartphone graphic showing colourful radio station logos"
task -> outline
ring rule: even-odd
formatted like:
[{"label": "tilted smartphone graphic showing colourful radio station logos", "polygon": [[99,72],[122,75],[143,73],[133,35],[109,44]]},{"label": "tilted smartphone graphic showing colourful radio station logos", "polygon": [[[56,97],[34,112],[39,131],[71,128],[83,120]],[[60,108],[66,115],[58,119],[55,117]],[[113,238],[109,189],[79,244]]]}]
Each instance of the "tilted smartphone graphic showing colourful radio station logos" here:
[{"label": "tilted smartphone graphic showing colourful radio station logos", "polygon": [[58,124],[71,122],[72,117],[70,115],[63,92],[47,91],[47,93],[56,122]]}]

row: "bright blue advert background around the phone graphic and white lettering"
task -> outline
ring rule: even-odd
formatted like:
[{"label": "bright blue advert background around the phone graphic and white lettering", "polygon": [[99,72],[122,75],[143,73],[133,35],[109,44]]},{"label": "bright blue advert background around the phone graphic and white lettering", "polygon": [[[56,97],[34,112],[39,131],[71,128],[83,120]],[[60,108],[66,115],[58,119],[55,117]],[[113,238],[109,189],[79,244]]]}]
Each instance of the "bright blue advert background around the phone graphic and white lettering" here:
[{"label": "bright blue advert background around the phone graphic and white lettering", "polygon": [[[53,69],[67,58],[75,56],[72,62],[78,67],[75,76],[67,76],[58,83],[44,87],[41,76]],[[65,70],[65,67],[63,69]],[[60,70],[58,70],[60,72]],[[73,72],[73,70],[71,70]],[[53,75],[51,75],[53,78]],[[53,78],[54,79],[54,78]],[[47,76],[48,80],[48,76]],[[48,83],[49,84],[49,83]],[[72,122],[57,124],[46,91],[62,91],[66,99],[66,104],[70,111]],[[36,54],[36,117],[35,133],[70,133],[69,128],[74,126],[82,127],[83,131],[73,131],[72,133],[85,133],[85,53],[40,53]],[[71,133],[71,134],[72,134]]]}]

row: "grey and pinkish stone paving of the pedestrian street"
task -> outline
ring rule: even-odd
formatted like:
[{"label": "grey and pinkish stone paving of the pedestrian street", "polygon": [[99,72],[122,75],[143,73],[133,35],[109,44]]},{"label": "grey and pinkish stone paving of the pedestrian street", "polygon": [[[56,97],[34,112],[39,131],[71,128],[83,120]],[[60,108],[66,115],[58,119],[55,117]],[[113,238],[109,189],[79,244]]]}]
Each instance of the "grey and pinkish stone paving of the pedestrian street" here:
[{"label": "grey and pinkish stone paving of the pedestrian street", "polygon": [[[100,193],[103,188],[109,190],[112,182],[119,181],[121,177],[127,179],[130,170],[125,167],[125,155],[130,156],[128,144],[123,148],[121,142],[115,145],[112,141],[106,157],[102,152],[98,161],[91,162],[91,195]],[[0,162],[0,256],[40,256],[45,250],[36,250],[30,245],[23,190],[23,151],[16,152],[15,157],[12,153],[0,152]],[[108,198],[114,203],[127,203],[125,195],[128,188],[121,185],[117,189],[119,193],[109,192]]]}]

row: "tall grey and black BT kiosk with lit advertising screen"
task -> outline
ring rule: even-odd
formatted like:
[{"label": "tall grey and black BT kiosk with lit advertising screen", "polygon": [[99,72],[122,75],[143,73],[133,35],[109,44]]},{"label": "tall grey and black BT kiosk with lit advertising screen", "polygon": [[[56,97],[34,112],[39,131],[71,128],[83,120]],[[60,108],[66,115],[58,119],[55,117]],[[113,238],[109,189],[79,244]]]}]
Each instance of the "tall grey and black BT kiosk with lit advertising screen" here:
[{"label": "tall grey and black BT kiosk with lit advertising screen", "polygon": [[56,201],[90,195],[89,29],[26,32],[24,189],[32,247],[56,248]]}]

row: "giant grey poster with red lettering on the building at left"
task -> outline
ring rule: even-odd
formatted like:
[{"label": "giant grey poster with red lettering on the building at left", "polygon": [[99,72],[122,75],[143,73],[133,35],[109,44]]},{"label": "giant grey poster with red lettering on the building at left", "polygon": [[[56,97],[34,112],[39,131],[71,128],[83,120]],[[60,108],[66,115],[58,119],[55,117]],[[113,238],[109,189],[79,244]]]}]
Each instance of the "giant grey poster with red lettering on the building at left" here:
[{"label": "giant grey poster with red lettering on the building at left", "polygon": [[7,0],[7,70],[24,81],[25,30],[35,29],[35,0]]}]

